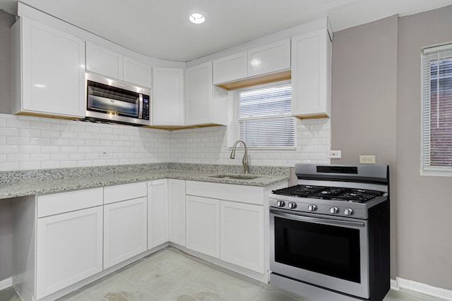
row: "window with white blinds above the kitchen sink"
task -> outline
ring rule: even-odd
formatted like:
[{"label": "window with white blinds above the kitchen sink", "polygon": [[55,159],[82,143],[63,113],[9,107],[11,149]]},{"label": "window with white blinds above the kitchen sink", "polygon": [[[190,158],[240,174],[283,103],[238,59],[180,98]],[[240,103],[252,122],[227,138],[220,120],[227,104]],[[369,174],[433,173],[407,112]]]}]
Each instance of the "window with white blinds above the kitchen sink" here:
[{"label": "window with white blinds above the kitchen sink", "polygon": [[244,140],[248,147],[295,147],[290,82],[230,92],[229,146]]}]

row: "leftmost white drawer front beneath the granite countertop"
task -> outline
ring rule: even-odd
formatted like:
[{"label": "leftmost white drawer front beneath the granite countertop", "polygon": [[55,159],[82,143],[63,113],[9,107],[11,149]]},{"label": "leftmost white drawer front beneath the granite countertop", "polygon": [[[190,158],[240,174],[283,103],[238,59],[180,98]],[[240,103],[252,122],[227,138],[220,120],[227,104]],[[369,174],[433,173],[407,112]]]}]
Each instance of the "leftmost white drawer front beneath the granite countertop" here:
[{"label": "leftmost white drawer front beneath the granite countertop", "polygon": [[100,206],[102,195],[102,188],[40,195],[37,197],[37,217]]}]

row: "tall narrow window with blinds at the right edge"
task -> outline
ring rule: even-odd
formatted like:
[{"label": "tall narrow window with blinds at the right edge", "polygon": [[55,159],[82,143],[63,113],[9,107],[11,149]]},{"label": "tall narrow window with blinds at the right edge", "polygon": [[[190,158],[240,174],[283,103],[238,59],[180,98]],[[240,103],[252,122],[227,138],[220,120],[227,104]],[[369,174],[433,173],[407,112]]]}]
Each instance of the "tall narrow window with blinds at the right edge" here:
[{"label": "tall narrow window with blinds at the right edge", "polygon": [[452,44],[422,51],[422,174],[452,176]]}]

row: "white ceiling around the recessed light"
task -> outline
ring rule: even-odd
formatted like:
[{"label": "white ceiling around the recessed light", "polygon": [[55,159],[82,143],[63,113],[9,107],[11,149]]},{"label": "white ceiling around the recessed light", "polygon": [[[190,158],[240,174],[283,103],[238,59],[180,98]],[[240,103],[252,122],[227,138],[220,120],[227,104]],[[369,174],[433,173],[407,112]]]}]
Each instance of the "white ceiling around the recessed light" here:
[{"label": "white ceiling around the recessed light", "polygon": [[[398,13],[407,16],[452,0],[22,0],[133,51],[190,61],[325,16],[333,31]],[[0,0],[17,13],[17,0]],[[203,13],[194,25],[189,15]]]}]

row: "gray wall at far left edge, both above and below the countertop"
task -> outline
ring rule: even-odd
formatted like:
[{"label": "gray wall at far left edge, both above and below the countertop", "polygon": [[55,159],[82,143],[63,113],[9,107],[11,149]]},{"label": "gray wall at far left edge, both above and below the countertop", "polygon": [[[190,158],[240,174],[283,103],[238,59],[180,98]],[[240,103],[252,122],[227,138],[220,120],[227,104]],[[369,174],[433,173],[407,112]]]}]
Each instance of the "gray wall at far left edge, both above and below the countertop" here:
[{"label": "gray wall at far left edge, both above and below the countertop", "polygon": [[[0,10],[0,113],[10,113],[9,27],[16,18]],[[11,277],[11,202],[0,199],[0,281]]]}]

